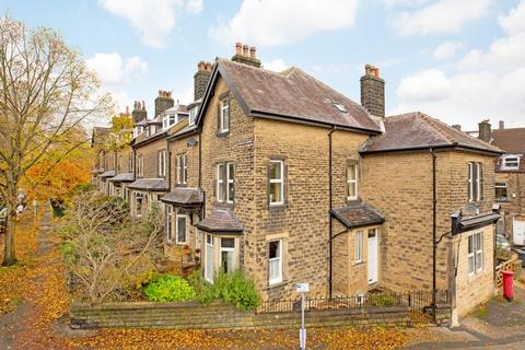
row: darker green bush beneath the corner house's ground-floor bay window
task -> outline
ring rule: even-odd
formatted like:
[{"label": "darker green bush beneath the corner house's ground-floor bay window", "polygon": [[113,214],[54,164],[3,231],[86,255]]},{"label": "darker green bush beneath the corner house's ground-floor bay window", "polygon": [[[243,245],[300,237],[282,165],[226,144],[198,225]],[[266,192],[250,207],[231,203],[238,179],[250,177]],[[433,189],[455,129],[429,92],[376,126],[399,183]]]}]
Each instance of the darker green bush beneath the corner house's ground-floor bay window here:
[{"label": "darker green bush beneath the corner house's ground-floor bay window", "polygon": [[195,271],[189,280],[197,292],[197,299],[205,304],[222,300],[240,310],[255,310],[260,303],[254,281],[246,278],[241,270],[232,273],[219,272],[213,284],[205,281],[200,271]]}]

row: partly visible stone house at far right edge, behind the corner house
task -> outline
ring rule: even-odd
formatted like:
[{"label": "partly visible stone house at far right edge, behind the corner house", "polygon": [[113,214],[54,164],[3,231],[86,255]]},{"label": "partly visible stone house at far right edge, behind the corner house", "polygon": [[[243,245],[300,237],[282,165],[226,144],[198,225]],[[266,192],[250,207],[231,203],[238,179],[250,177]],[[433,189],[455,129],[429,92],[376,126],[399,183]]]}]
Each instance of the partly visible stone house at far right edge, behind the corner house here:
[{"label": "partly visible stone house at far right edge, behind the corner house", "polygon": [[505,151],[495,165],[495,201],[501,205],[501,234],[515,245],[525,245],[525,128],[492,130],[483,120],[479,138]]}]

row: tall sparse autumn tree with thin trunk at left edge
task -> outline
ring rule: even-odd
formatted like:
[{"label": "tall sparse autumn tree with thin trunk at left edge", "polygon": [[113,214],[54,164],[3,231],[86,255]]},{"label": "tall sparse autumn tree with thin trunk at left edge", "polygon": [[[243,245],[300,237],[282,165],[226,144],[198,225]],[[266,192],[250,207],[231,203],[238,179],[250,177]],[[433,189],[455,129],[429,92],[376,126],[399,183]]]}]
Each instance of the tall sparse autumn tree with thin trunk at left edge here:
[{"label": "tall sparse autumn tree with thin trunk at left edge", "polygon": [[27,172],[57,168],[86,141],[68,136],[109,114],[110,98],[98,88],[94,72],[56,32],[0,18],[0,194],[8,207],[3,266],[16,262],[13,219]]}]

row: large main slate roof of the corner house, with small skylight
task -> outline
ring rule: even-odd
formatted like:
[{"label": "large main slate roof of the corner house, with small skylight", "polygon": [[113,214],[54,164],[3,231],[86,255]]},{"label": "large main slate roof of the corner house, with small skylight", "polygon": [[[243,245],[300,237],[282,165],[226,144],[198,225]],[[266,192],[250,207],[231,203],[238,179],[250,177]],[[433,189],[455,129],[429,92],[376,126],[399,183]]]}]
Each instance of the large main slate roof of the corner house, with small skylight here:
[{"label": "large main slate roof of the corner house, with small skylight", "polygon": [[[380,126],[364,107],[299,68],[273,72],[218,58],[212,79],[217,78],[218,72],[248,116],[336,125],[369,133],[381,132]],[[208,85],[207,96],[211,85]],[[207,100],[209,96],[203,100],[199,122]],[[335,103],[345,106],[347,112],[339,110]]]}]

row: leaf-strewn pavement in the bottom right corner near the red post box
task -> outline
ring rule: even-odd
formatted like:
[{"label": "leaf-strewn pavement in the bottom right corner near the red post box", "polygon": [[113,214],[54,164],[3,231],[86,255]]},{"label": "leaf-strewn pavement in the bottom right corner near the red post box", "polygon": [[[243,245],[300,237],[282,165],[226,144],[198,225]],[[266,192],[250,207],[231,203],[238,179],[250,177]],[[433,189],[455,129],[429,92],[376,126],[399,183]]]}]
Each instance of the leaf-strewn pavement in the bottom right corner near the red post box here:
[{"label": "leaf-strewn pavement in the bottom right corner near the red post box", "polygon": [[525,349],[525,285],[515,281],[512,302],[495,296],[460,324],[432,327],[407,349]]}]

